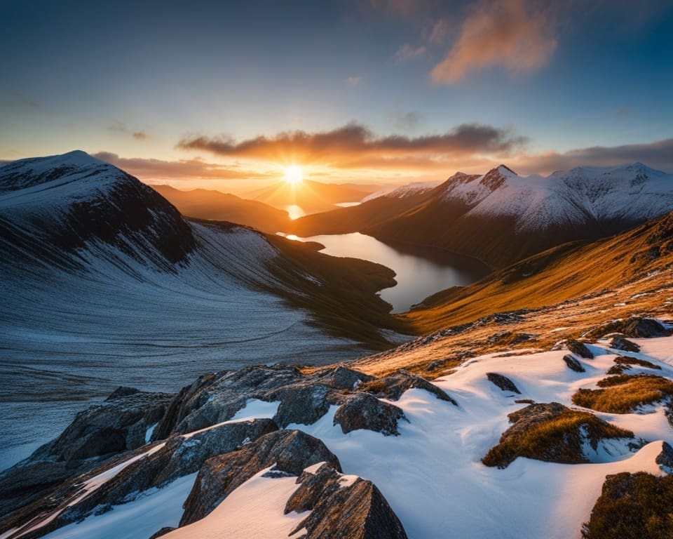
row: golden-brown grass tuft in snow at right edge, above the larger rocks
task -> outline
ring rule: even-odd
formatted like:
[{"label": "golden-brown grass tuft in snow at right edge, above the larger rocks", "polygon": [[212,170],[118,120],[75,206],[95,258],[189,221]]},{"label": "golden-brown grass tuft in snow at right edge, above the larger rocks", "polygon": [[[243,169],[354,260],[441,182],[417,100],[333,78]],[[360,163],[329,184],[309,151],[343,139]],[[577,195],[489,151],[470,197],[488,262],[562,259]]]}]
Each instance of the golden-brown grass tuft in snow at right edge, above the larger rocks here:
[{"label": "golden-brown grass tuft in snow at right edge, above the larger rocks", "polygon": [[578,390],[573,403],[599,412],[631,413],[673,395],[673,381],[661,376],[620,374],[604,378],[599,390]]}]

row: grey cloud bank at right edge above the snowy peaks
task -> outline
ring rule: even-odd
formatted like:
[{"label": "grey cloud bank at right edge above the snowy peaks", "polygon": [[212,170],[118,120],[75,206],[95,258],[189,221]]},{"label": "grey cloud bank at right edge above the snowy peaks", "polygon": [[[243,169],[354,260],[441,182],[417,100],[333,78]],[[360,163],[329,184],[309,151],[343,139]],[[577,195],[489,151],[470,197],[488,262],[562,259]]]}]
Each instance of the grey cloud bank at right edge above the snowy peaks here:
[{"label": "grey cloud bank at right edge above the snowy peaks", "polygon": [[618,166],[641,161],[653,168],[673,173],[673,138],[621,146],[593,146],[569,152],[522,154],[517,168],[524,173],[549,173],[576,166]]}]

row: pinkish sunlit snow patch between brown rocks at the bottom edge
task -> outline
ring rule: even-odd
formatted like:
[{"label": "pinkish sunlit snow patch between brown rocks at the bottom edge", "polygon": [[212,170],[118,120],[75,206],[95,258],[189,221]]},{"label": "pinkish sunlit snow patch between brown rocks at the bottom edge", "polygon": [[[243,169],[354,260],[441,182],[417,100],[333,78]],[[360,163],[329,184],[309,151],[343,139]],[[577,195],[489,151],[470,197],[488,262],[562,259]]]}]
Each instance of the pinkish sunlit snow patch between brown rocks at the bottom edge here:
[{"label": "pinkish sunlit snow patch between brown rocks at the bottom edge", "polygon": [[[287,539],[309,512],[283,514],[297,490],[296,477],[264,477],[271,467],[236,488],[205,518],[165,535],[166,539]],[[301,537],[301,533],[292,538]]]}]

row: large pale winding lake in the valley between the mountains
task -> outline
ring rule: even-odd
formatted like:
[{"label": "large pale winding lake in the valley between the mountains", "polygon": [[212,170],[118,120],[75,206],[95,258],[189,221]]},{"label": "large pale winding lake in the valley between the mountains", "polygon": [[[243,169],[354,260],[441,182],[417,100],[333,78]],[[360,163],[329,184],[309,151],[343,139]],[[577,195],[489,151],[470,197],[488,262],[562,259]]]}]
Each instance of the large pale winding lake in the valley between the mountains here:
[{"label": "large pale winding lake in the valley between the mountains", "polygon": [[434,247],[384,244],[359,232],[299,239],[318,241],[325,246],[320,252],[327,255],[362,258],[393,270],[397,286],[384,288],[380,293],[381,298],[393,305],[393,312],[405,312],[428,295],[451,286],[471,284],[491,273],[487,265],[475,258]]}]

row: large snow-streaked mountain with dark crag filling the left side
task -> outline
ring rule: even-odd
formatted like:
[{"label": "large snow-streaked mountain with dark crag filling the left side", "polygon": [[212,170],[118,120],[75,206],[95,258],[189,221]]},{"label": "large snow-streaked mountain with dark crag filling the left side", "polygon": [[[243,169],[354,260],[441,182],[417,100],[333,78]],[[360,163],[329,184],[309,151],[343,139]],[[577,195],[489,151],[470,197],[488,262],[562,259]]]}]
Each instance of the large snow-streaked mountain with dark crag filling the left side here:
[{"label": "large snow-streaked mountain with dark crag filling the left side", "polygon": [[391,270],[185,220],[83,152],[0,168],[0,274],[0,467],[117,385],[177,389],[260,358],[320,364],[404,330],[376,295]]}]

